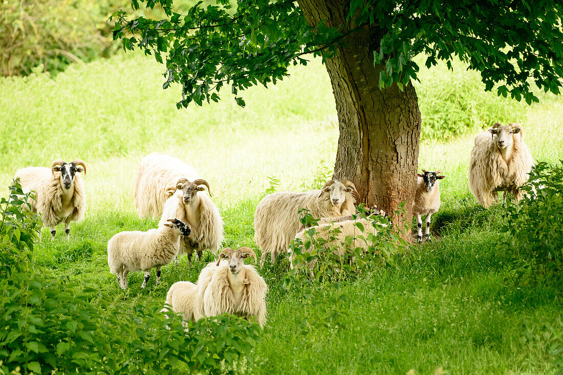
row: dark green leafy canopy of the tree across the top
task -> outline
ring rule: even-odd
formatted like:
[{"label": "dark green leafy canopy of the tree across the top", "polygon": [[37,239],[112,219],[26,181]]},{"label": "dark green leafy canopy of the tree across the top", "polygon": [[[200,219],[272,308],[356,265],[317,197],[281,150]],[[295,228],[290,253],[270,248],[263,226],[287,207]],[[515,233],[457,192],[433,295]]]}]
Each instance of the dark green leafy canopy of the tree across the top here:
[{"label": "dark green leafy canopy of the tree across the top", "polygon": [[385,64],[379,88],[417,79],[412,59],[419,53],[428,67],[438,60],[451,66],[457,56],[481,73],[487,90],[528,103],[538,100],[531,83],[558,94],[563,78],[558,1],[352,0],[338,3],[341,24],[314,26],[289,0],[198,2],[186,13],[176,12],[172,0],[132,1],[133,10],[141,5],[162,6],[168,17],[129,19],[115,12],[114,39],[122,39],[126,50],[139,48],[166,60],[163,88],[182,85],[178,108],[218,101],[224,85],[244,106],[238,96],[243,89],[275,84],[288,75],[289,65],[306,65],[307,55],[330,57],[346,35],[365,28],[379,35],[373,46],[374,64]]}]

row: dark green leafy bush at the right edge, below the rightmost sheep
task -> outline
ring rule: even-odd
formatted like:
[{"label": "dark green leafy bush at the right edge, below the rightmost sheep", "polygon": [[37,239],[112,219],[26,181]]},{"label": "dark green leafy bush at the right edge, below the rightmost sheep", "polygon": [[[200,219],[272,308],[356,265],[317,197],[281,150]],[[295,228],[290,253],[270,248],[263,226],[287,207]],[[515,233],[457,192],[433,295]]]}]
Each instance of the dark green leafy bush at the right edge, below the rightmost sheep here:
[{"label": "dark green leafy bush at the right edge, below the rightmost sheep", "polygon": [[523,273],[563,283],[563,161],[539,162],[530,173],[519,204],[507,207],[508,234],[501,246]]}]

